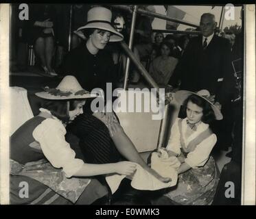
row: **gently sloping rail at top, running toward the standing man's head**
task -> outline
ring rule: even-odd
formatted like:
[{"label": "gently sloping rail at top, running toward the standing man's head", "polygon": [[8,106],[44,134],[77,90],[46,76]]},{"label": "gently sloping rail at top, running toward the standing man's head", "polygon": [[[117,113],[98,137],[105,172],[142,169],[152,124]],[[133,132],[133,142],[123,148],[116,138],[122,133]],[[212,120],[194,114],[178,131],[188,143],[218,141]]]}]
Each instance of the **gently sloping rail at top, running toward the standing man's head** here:
[{"label": "gently sloping rail at top, running toward the standing man's head", "polygon": [[[122,9],[122,10],[127,10],[127,11],[130,12],[130,7],[126,6],[126,5],[112,5],[112,7],[113,8],[119,8],[119,9]],[[176,23],[181,23],[183,25],[188,25],[188,26],[191,26],[191,27],[199,27],[195,23],[183,21],[183,20],[176,19],[176,18],[171,18],[170,16],[166,16],[166,15],[159,14],[159,13],[149,12],[149,11],[143,10],[141,8],[137,9],[137,13],[145,14],[147,16],[153,16],[155,18],[160,18],[160,19],[163,19],[165,21],[172,21],[172,22],[176,22]]]}]

